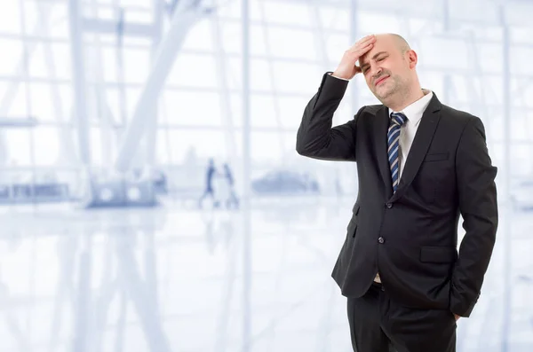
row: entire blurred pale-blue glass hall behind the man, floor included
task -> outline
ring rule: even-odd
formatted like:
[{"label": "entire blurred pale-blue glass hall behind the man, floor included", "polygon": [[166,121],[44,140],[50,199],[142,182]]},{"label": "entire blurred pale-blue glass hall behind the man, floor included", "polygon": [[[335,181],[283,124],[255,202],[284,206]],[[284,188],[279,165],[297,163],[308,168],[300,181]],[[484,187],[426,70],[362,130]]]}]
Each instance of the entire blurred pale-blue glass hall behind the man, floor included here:
[{"label": "entire blurred pale-blue glass hall behind the man, floor included", "polygon": [[[299,156],[296,131],[322,74],[384,32],[418,52],[424,88],[480,116],[499,170],[457,349],[532,351],[532,16],[526,0],[2,0],[0,352],[351,351],[330,272],[357,172]],[[334,124],[376,103],[357,76]]]}]

